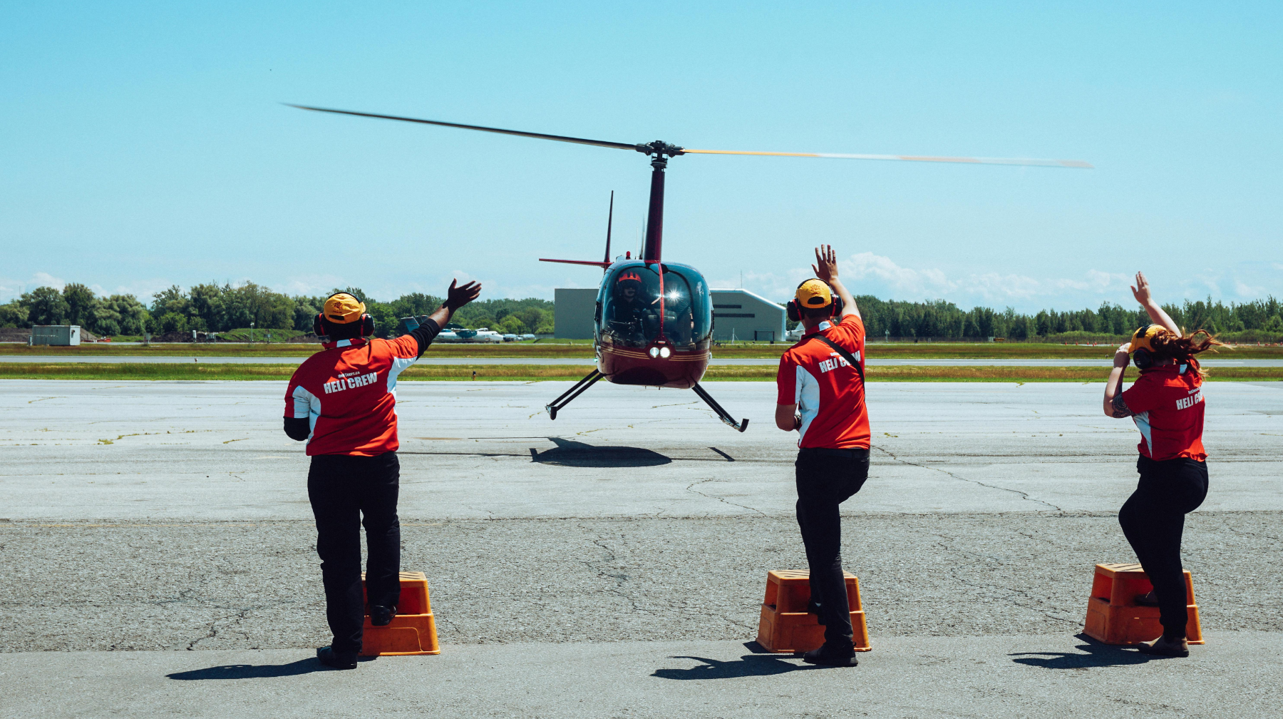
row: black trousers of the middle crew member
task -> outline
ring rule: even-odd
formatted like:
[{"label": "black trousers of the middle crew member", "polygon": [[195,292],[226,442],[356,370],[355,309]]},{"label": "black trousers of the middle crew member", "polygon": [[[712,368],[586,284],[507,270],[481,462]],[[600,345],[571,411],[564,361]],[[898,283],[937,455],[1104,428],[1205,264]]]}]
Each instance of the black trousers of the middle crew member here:
[{"label": "black trousers of the middle crew member", "polygon": [[869,479],[869,449],[799,449],[794,463],[798,528],[811,570],[811,611],[824,624],[824,643],[851,646],[851,609],[842,574],[838,505]]}]

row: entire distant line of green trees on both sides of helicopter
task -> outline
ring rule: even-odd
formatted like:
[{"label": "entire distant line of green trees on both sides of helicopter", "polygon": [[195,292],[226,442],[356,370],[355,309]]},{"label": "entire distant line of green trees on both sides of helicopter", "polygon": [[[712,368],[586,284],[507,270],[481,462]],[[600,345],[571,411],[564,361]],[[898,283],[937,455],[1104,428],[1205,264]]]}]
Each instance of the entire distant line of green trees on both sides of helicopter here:
[{"label": "entire distant line of green trees on both sides of helicopter", "polygon": [[[441,298],[413,293],[391,302],[378,302],[361,288],[343,288],[366,303],[375,318],[375,330],[386,336],[395,333],[402,317],[427,315]],[[286,295],[248,282],[195,285],[189,290],[174,285],[151,295],[144,304],[132,294],[98,297],[87,286],[72,282],[62,290],[37,288],[21,298],[0,304],[0,327],[32,325],[81,325],[94,334],[141,335],[144,331],[228,331],[249,327],[312,330],[312,317],[321,311],[327,295]],[[988,338],[1033,339],[1057,335],[1129,335],[1150,320],[1139,307],[1126,309],[1105,303],[1097,309],[1057,312],[1044,309],[1021,315],[1012,308],[988,307],[961,309],[952,302],[897,302],[871,295],[856,298],[865,326],[874,338]],[[1283,303],[1259,299],[1243,304],[1206,300],[1165,304],[1178,325],[1187,330],[1206,329],[1230,340],[1279,342],[1283,338]],[[454,315],[468,329],[490,327],[502,333],[544,334],[553,331],[553,303],[547,299],[488,299],[473,302]],[[792,326],[792,324],[790,324]]]}]

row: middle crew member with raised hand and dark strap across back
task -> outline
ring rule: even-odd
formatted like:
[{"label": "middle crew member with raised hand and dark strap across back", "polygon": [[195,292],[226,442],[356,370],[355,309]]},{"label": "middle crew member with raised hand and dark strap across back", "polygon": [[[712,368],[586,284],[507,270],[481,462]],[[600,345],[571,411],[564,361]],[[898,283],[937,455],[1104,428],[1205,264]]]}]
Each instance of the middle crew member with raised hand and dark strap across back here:
[{"label": "middle crew member with raised hand and dark strap across back", "polygon": [[815,259],[819,279],[798,285],[789,303],[789,318],[806,331],[780,357],[775,425],[799,434],[794,466],[798,526],[811,567],[808,611],[824,624],[824,646],[803,660],[856,666],[838,506],[869,478],[865,325],[856,300],[838,281],[833,248],[816,248]]}]

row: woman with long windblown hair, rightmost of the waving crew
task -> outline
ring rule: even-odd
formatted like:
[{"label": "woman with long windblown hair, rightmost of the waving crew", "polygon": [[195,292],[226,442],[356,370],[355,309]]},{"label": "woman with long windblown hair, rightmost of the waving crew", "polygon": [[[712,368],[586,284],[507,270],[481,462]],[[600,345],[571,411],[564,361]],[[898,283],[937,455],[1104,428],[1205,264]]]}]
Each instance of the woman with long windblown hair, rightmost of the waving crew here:
[{"label": "woman with long windblown hair, rightmost of the waving crew", "polygon": [[[1132,417],[1141,430],[1137,446],[1141,456],[1135,463],[1141,481],[1119,510],[1119,524],[1153,584],[1153,591],[1135,597],[1135,602],[1159,607],[1162,636],[1137,648],[1144,654],[1189,656],[1185,642],[1189,602],[1180,564],[1180,535],[1185,515],[1207,497],[1207,452],[1202,446],[1206,372],[1194,354],[1221,343],[1206,330],[1184,335],[1153,300],[1143,273],[1137,272],[1132,293],[1152,324],[1138,329],[1132,342],[1114,354],[1103,408],[1110,417]],[[1120,392],[1129,360],[1135,362],[1141,376]]]}]

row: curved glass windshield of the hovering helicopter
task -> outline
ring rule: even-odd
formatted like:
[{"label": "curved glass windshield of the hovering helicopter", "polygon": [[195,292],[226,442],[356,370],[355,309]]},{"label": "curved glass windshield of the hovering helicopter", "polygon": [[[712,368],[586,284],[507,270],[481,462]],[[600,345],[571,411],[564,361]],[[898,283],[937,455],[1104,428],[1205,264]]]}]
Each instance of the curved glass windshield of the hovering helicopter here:
[{"label": "curved glass windshield of the hovering helicopter", "polygon": [[697,349],[708,342],[712,309],[704,279],[681,264],[630,264],[607,281],[602,334],[612,344],[647,347],[661,336],[674,349]]}]

